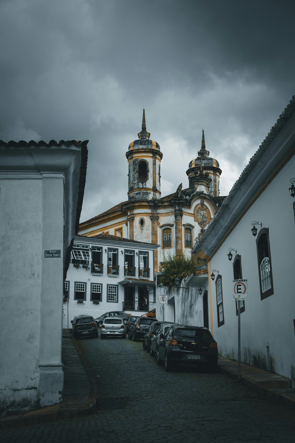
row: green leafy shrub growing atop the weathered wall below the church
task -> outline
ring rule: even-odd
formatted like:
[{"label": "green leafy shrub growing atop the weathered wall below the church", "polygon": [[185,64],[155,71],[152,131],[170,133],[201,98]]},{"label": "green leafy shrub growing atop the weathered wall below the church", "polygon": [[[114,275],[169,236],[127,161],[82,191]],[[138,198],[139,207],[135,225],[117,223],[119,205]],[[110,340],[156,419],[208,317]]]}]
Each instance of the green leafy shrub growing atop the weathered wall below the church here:
[{"label": "green leafy shrub growing atop the weathered wall below the church", "polygon": [[159,281],[163,286],[172,286],[175,277],[181,279],[189,274],[194,274],[196,268],[194,257],[187,257],[184,253],[176,257],[168,253],[164,257]]}]

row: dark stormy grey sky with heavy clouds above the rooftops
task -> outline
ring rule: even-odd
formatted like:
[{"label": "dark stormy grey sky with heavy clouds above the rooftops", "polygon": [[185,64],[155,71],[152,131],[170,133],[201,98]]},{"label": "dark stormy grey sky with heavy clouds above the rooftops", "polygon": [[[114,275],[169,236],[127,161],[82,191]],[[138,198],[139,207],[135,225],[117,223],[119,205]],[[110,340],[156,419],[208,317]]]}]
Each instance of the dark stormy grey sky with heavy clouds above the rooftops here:
[{"label": "dark stormy grey sky with heavy clouds above the rooftops", "polygon": [[146,128],[162,196],[202,128],[226,195],[295,93],[295,2],[0,0],[0,139],[89,140],[80,221],[127,200]]}]

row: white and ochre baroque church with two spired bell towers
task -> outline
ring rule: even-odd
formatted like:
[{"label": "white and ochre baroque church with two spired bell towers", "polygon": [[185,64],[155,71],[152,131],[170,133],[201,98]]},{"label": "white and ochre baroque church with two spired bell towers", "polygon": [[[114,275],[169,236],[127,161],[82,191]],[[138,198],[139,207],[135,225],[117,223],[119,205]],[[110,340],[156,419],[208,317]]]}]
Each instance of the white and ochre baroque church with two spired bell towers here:
[{"label": "white and ochre baroque church with two spired bell towers", "polygon": [[[224,197],[219,196],[221,169],[209,157],[204,131],[198,157],[188,165],[189,186],[161,197],[161,160],[159,144],[150,139],[143,110],[142,130],[130,143],[128,161],[128,200],[80,223],[79,234],[95,237],[110,234],[129,240],[160,245],[154,252],[154,272],[161,269],[165,254],[191,253],[195,242],[216,214]],[[138,263],[138,268],[152,264]]]}]

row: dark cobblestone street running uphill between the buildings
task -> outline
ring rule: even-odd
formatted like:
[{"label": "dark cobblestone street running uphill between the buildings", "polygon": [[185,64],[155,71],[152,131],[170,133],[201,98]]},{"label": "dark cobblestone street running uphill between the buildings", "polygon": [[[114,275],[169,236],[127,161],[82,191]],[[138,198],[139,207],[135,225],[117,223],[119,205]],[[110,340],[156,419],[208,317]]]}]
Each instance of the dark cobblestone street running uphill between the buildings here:
[{"label": "dark cobblestone street running uphill between the buildings", "polygon": [[97,412],[1,431],[1,442],[294,442],[294,411],[237,381],[191,368],[166,373],[142,341],[77,344],[96,381]]}]

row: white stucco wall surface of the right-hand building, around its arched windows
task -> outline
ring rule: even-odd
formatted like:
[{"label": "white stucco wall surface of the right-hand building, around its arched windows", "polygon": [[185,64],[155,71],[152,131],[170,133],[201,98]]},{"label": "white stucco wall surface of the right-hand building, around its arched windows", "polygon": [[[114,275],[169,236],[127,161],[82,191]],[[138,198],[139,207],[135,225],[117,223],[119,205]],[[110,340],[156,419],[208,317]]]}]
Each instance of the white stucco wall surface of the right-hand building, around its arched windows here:
[{"label": "white stucco wall surface of the right-hand building, around its arched windows", "polygon": [[[241,313],[241,359],[250,365],[267,369],[269,348],[271,370],[295,382],[295,301],[293,264],[295,221],[292,199],[288,192],[294,177],[294,157],[274,177],[241,221],[230,233],[211,260],[211,268],[222,275],[224,325],[217,325],[216,288],[212,282],[214,334],[218,350],[228,358],[238,358],[238,317],[232,296],[233,262],[227,259],[228,248],[241,255],[243,279],[248,280],[248,299]],[[256,239],[251,222],[262,222],[269,229],[274,293],[261,300]],[[258,231],[261,226],[257,226]],[[215,273],[215,281],[216,281]]]}]

